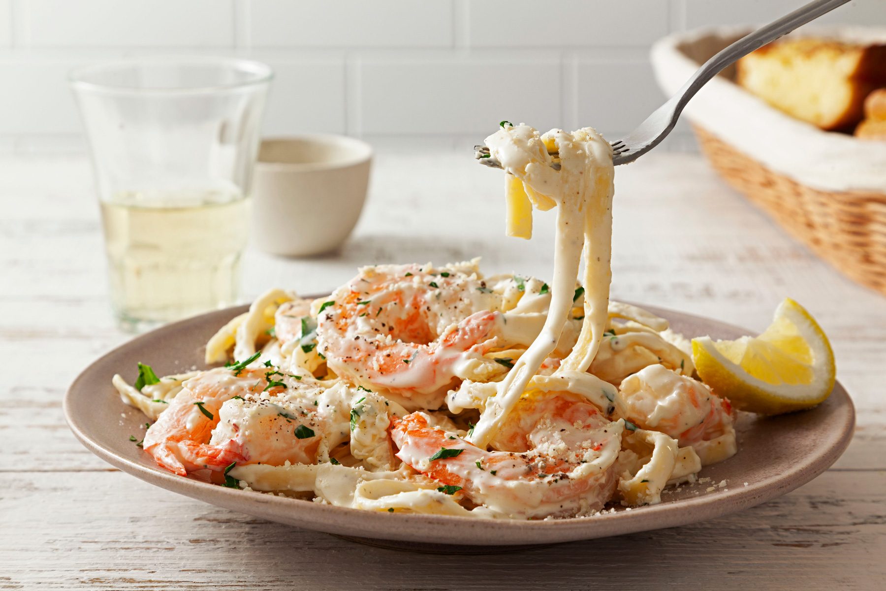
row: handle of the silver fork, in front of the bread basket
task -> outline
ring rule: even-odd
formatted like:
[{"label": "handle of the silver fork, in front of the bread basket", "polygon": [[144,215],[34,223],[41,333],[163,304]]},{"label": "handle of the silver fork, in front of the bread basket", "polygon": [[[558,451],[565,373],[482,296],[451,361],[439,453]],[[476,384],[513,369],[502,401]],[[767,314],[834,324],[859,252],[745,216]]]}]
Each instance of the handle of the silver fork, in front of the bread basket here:
[{"label": "handle of the silver fork, in front of the bread basket", "polygon": [[771,43],[781,37],[787,35],[795,28],[805,25],[810,20],[818,19],[822,14],[831,12],[837,6],[842,6],[850,2],[850,0],[815,0],[805,6],[798,8],[787,16],[781,17],[766,27],[758,28],[750,35],[746,35],[719,51],[717,55],[704,62],[698,68],[696,74],[693,74],[683,87],[674,97],[677,98],[677,104],[674,105],[675,117],[683,110],[683,107],[689,102],[689,99],[696,95],[706,82],[711,80],[726,66],[738,61],[739,58],[748,55],[751,51]]}]

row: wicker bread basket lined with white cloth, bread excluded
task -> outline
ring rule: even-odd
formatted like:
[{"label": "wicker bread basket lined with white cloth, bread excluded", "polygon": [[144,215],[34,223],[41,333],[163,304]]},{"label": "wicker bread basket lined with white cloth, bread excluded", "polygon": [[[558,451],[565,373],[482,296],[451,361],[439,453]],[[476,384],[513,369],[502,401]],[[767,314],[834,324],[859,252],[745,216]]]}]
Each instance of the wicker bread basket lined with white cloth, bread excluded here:
[{"label": "wicker bread basket lined with white cloth, bread excluded", "polygon": [[[659,42],[653,63],[665,92],[672,94],[699,63],[746,32],[696,31]],[[843,29],[818,34],[847,35]],[[736,86],[733,75],[711,81],[687,108],[711,165],[822,259],[886,294],[886,142],[791,120]]]}]

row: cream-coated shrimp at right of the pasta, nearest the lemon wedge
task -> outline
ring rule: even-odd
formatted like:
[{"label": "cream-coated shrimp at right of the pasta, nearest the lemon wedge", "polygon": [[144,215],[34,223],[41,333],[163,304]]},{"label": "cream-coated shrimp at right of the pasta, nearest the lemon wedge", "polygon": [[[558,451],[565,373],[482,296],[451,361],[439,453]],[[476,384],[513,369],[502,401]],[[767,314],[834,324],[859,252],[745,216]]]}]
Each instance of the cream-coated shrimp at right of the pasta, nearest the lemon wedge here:
[{"label": "cream-coated shrimp at right of the pasta, nearest the lemon wedge", "polygon": [[[729,400],[662,365],[649,365],[626,377],[618,402],[619,415],[643,429],[664,432],[681,447],[692,446],[697,451],[703,442],[734,434]],[[702,462],[706,463],[704,458]]]}]

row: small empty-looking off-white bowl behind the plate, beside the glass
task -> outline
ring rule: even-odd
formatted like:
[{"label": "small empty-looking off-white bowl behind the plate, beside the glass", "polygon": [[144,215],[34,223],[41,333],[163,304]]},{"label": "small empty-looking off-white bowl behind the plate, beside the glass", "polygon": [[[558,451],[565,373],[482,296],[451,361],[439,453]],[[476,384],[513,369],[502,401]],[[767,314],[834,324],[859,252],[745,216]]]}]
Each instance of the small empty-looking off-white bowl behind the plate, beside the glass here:
[{"label": "small empty-looking off-white bowl behind the plate, beside the glass", "polygon": [[372,147],[345,136],[261,142],[253,180],[253,237],[266,253],[329,253],[351,234],[366,201]]}]

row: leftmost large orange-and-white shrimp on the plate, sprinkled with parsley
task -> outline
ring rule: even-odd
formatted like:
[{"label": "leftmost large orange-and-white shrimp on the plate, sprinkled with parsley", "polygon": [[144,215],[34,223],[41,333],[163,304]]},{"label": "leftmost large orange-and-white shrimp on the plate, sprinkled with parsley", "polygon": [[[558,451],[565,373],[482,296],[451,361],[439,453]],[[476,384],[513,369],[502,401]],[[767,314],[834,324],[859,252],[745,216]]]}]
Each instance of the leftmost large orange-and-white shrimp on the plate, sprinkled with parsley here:
[{"label": "leftmost large orange-and-white shrimp on the plate, sprinkled with parsley", "polygon": [[[145,434],[144,451],[179,475],[231,463],[307,462],[320,442],[317,409],[304,400],[323,389],[266,369],[210,369],[183,384]],[[305,379],[307,382],[307,378]],[[279,396],[299,389],[294,395]],[[308,406],[310,404],[310,406]]]}]

